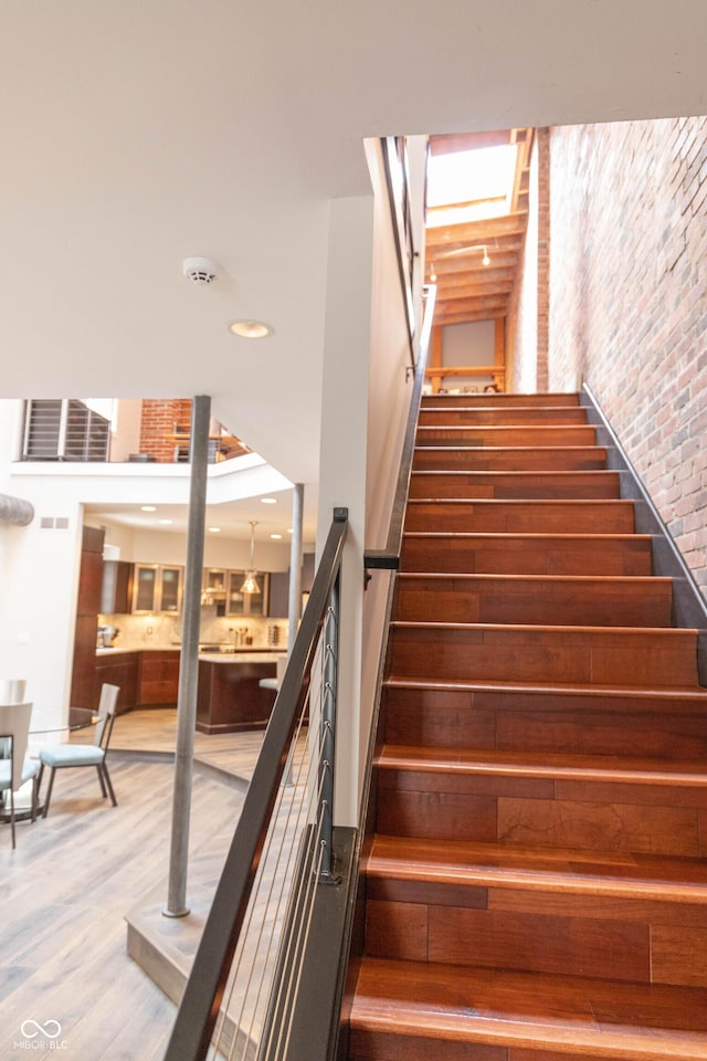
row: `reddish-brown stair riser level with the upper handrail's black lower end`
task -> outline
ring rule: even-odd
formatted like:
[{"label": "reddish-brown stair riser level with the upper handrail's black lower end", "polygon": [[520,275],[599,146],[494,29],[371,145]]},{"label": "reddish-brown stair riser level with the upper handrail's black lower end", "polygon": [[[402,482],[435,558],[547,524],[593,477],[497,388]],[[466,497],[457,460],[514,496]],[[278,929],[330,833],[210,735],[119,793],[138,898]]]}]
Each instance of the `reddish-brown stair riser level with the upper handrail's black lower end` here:
[{"label": "reddish-brown stair riser level with the upper handrail's black lower end", "polygon": [[405,535],[401,570],[454,575],[636,575],[652,570],[651,543],[645,538],[440,538]]}]

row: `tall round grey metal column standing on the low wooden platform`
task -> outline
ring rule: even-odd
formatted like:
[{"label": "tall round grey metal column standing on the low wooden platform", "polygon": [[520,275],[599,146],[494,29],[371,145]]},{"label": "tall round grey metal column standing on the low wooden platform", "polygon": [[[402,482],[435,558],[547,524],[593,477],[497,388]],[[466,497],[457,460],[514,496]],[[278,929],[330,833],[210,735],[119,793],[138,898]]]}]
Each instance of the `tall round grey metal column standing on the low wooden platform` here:
[{"label": "tall round grey metal column standing on the low wooden platform", "polygon": [[189,494],[189,529],[184,571],[181,656],[177,696],[177,752],[175,756],[175,791],[172,832],[169,858],[169,884],[166,917],[183,917],[187,906],[187,870],[189,865],[189,817],[191,778],[197,722],[197,686],[199,683],[199,626],[201,620],[201,579],[203,569],[204,517],[207,507],[207,468],[209,460],[209,420],[211,399],[200,395],[193,399],[191,412],[191,481]]}]

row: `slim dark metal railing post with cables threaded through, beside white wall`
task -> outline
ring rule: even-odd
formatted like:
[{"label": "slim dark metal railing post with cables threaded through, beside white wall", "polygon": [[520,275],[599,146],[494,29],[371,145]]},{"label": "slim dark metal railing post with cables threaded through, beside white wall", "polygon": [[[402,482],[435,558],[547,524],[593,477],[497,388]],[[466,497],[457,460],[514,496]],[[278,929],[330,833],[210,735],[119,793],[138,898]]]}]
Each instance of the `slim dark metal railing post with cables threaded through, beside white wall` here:
[{"label": "slim dark metal railing post with cables threaded through, beside white wall", "polygon": [[336,674],[339,655],[339,580],[336,577],[329,597],[329,607],[324,624],[324,687],[321,691],[321,836],[324,847],[319,879],[331,883],[334,878],[334,755],[336,724]]}]

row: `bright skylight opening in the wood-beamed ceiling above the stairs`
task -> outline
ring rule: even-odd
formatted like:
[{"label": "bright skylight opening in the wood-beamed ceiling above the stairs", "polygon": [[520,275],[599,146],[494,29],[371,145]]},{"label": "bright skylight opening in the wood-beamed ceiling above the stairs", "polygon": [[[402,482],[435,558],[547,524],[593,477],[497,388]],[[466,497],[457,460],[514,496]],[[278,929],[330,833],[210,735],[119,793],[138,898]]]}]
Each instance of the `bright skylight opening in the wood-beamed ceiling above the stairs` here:
[{"label": "bright skylight opening in the wood-beamed ceiling above the stairs", "polygon": [[432,155],[428,161],[428,225],[458,224],[510,212],[515,144]]}]

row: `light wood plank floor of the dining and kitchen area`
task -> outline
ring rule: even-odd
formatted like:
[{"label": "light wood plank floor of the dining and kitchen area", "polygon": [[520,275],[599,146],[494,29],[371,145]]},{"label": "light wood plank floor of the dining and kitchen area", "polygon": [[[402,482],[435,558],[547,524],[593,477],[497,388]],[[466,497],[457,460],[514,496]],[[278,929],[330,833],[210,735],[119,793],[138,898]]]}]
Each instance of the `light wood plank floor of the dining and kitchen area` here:
[{"label": "light wood plank floor of the dining and kitchen area", "polygon": [[[161,1059],[175,1007],[127,957],[124,918],[166,880],[172,765],[135,752],[173,750],[175,721],[161,711],[118,717],[108,759],[117,808],[101,799],[95,771],[66,770],[49,817],[18,824],[15,851],[0,826],[1,1059],[21,1055],[23,1021],[57,1021],[66,1061]],[[197,757],[233,771],[244,788],[262,737],[198,735]],[[197,769],[196,862],[200,849],[212,866],[224,857],[242,801],[238,787]]]}]

